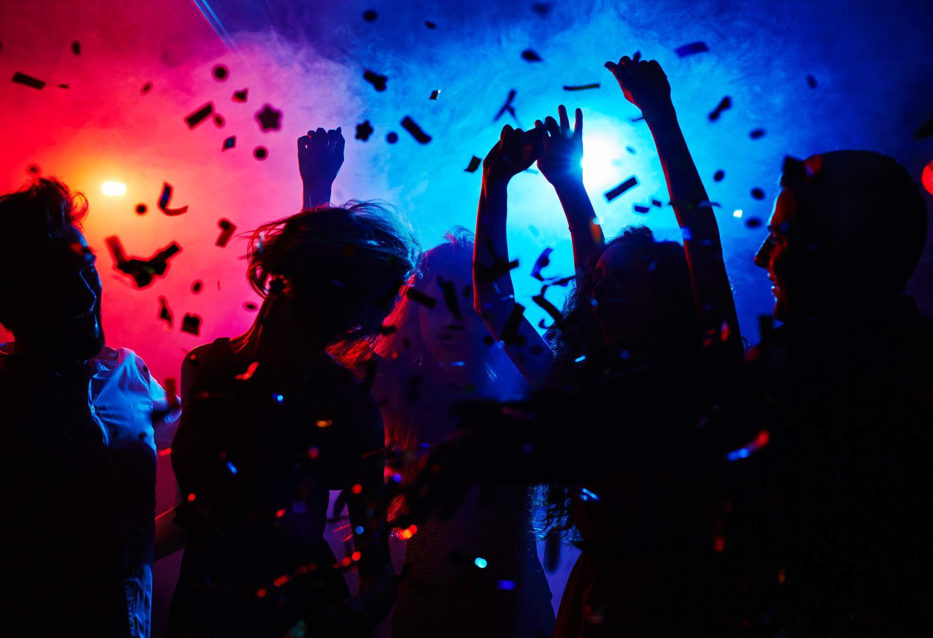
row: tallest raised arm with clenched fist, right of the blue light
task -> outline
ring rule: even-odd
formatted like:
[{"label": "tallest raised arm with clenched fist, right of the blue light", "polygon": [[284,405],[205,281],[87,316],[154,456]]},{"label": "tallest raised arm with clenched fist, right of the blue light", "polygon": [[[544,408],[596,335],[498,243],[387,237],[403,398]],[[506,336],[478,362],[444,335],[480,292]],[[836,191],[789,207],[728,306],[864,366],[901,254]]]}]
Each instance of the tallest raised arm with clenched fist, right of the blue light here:
[{"label": "tallest raised arm with clenched fist, right of the blue light", "polygon": [[621,58],[619,64],[607,62],[606,68],[619,81],[625,99],[642,110],[654,136],[674,214],[684,231],[693,302],[710,359],[741,361],[742,338],[716,217],[677,123],[667,76],[656,61],[636,63],[628,56]]}]

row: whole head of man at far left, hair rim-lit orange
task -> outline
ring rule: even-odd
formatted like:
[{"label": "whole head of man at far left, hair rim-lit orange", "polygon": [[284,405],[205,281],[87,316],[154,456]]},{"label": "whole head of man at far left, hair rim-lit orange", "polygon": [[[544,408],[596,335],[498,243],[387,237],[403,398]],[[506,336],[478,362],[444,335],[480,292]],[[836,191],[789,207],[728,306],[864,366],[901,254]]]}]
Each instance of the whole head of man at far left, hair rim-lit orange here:
[{"label": "whole head of man at far left, hair rim-lit orange", "polygon": [[56,179],[0,196],[0,323],[17,352],[83,362],[104,347],[101,278],[81,234],[88,203]]}]

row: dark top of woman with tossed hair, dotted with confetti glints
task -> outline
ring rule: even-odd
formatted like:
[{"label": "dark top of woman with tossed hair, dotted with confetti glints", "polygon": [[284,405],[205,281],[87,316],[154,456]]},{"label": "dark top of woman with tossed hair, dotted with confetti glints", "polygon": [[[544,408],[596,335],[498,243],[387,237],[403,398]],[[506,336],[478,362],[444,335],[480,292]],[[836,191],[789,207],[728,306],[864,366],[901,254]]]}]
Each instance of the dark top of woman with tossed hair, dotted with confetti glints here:
[{"label": "dark top of woman with tossed hair, dotted with confetti glints", "polygon": [[[316,635],[327,626],[350,595],[324,539],[330,489],[366,486],[349,503],[357,564],[365,572],[387,562],[384,529],[373,532],[383,424],[369,393],[323,352],[294,370],[247,372],[250,363],[228,339],[214,342],[175,434],[173,468],[187,497],[176,521],[188,545],[173,636]],[[362,514],[370,500],[377,518]]]}]

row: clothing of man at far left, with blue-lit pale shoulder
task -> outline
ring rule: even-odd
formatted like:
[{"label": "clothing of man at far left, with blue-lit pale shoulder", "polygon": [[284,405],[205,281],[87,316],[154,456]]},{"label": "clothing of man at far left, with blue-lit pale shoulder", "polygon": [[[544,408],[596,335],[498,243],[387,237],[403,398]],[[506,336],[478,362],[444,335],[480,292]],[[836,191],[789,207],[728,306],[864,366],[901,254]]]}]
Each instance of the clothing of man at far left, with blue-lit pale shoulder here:
[{"label": "clothing of man at far left, with blue-lit pale shoulder", "polygon": [[[165,392],[125,348],[86,376],[0,353],[8,461],[5,631],[149,635],[156,454]],[[153,413],[160,411],[154,418]]]}]

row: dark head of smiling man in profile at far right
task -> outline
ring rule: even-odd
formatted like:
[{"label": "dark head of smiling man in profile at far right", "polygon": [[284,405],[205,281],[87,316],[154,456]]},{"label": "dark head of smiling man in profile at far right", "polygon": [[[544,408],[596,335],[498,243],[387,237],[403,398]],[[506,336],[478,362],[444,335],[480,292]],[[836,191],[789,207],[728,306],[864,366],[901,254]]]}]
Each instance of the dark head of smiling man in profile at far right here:
[{"label": "dark head of smiling man in profile at far right", "polygon": [[878,311],[907,285],[926,242],[926,206],[907,170],[867,150],[787,158],[770,234],[755,256],[774,317]]}]

